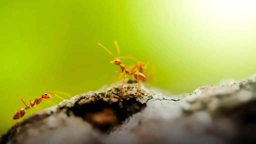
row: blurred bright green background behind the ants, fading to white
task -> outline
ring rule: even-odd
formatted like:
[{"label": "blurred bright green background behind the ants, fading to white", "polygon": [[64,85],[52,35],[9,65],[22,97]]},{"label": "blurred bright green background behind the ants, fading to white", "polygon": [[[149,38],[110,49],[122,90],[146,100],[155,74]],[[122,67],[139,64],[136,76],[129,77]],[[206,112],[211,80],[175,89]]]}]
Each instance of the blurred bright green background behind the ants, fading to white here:
[{"label": "blurred bright green background behind the ants, fading to white", "polygon": [[256,70],[255,6],[231,0],[1,0],[0,134],[11,126],[18,97],[27,102],[54,90],[74,96],[112,83],[119,67],[97,43],[116,55],[117,40],[122,56],[151,61],[154,85],[174,94],[248,78]]}]

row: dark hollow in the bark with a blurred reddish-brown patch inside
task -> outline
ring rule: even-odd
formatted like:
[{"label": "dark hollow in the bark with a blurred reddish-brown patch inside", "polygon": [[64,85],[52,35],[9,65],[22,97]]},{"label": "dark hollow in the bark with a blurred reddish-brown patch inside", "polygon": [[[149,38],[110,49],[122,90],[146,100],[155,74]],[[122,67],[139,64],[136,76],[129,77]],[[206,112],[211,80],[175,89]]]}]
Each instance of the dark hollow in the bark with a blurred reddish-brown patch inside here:
[{"label": "dark hollow in the bark with a blurred reddish-brown patch inside", "polygon": [[140,112],[144,106],[144,104],[133,98],[112,103],[100,99],[90,104],[77,104],[69,108],[68,111],[72,111],[74,115],[82,117],[102,132],[108,132],[122,124],[129,116]]}]

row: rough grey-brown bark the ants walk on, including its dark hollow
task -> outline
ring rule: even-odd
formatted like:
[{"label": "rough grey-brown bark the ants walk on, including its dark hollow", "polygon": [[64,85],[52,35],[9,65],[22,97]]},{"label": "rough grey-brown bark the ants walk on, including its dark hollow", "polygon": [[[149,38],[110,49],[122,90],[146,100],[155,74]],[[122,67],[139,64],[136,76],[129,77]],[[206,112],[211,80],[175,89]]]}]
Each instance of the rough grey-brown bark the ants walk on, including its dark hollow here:
[{"label": "rough grey-brown bark the ants walk on, including its dark hollow", "polygon": [[63,100],[0,143],[255,143],[256,76],[172,95],[129,80]]}]

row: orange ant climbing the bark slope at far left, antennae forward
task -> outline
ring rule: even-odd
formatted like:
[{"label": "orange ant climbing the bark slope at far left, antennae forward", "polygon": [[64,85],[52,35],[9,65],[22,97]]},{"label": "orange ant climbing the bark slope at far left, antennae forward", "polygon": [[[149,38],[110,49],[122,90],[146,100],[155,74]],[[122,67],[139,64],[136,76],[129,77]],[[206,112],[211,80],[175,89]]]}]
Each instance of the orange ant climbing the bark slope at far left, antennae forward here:
[{"label": "orange ant climbing the bark slope at far left, antennae forward", "polygon": [[[68,96],[71,98],[71,95],[66,94],[66,93],[64,93],[64,92],[60,92],[60,91],[56,91],[56,92],[62,93],[62,94],[64,94],[64,95],[68,95]],[[19,109],[18,109],[18,110],[16,109],[16,110],[15,110],[16,112],[14,111],[13,121],[16,120],[16,119],[19,119],[19,120],[20,120],[20,118],[22,118],[22,117],[26,114],[26,110],[29,110],[29,109],[33,108],[34,106],[36,107],[36,105],[39,105],[42,100],[46,100],[46,101],[49,102],[50,104],[56,105],[56,104],[54,104],[53,102],[50,102],[49,100],[47,100],[47,99],[49,99],[49,98],[52,98],[52,99],[53,99],[53,97],[51,97],[50,94],[52,94],[52,95],[54,95],[54,96],[56,96],[56,97],[58,97],[58,98],[60,98],[60,99],[62,99],[62,100],[65,100],[64,98],[62,98],[62,97],[60,97],[60,96],[58,96],[58,95],[56,95],[56,94],[53,94],[53,93],[50,93],[50,92],[46,92],[46,93],[42,94],[41,97],[36,98],[36,99],[34,100],[34,102],[31,102],[30,99],[28,98],[29,106],[27,106],[26,103],[23,101],[23,99],[19,97],[19,101],[21,100],[21,101],[23,102],[23,104],[24,104],[26,107],[20,109],[20,102],[18,103]],[[36,108],[36,109],[37,109],[37,108]],[[33,113],[32,109],[31,109],[31,112]],[[13,121],[12,121],[12,126],[13,126]]]}]

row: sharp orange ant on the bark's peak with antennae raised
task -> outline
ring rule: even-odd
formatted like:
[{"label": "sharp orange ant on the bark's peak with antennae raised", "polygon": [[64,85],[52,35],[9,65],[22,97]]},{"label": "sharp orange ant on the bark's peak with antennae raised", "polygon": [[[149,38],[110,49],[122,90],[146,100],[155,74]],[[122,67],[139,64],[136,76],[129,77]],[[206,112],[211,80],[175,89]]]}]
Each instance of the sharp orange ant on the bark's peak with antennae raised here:
[{"label": "sharp orange ant on the bark's peak with antennae raised", "polygon": [[[106,49],[106,48],[105,48],[103,45],[101,45],[100,43],[98,43],[98,44],[99,44],[100,46],[102,46],[104,49]],[[121,68],[121,70],[122,70],[122,71],[115,71],[114,82],[115,82],[115,78],[116,78],[116,73],[123,73],[123,72],[125,71],[126,74],[125,74],[125,76],[124,76],[124,80],[125,80],[125,78],[126,78],[127,75],[129,75],[129,76],[130,76],[130,75],[134,75],[134,77],[138,80],[138,88],[139,88],[139,86],[140,86],[139,80],[145,80],[146,77],[145,77],[142,73],[139,73],[138,70],[135,70],[135,71],[133,71],[133,72],[131,73],[128,69],[125,68],[124,65],[121,64],[121,60],[118,59],[118,58],[119,58],[119,55],[120,55],[120,49],[119,49],[118,43],[117,43],[116,41],[114,41],[114,44],[115,44],[116,49],[117,49],[117,51],[118,51],[118,57],[115,57],[108,49],[106,49],[106,50],[115,58],[115,60],[110,61],[110,63],[115,64],[115,65],[119,65],[120,68]],[[123,87],[123,85],[124,85],[124,80],[123,80],[122,87]]]}]

